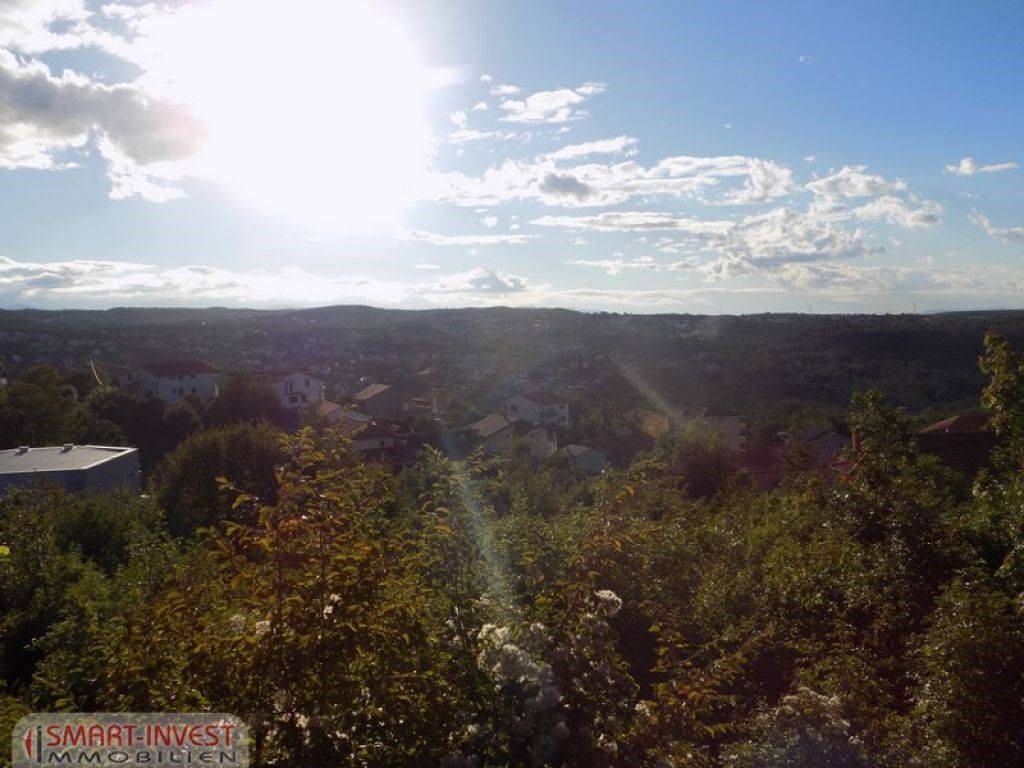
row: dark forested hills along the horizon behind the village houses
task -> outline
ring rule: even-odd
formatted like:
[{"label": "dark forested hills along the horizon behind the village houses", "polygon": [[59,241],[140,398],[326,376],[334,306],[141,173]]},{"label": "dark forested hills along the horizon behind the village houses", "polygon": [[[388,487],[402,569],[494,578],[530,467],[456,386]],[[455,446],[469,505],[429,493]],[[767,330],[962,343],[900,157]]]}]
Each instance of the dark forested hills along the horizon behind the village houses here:
[{"label": "dark forested hills along the horizon behind the village houses", "polygon": [[615,400],[844,408],[878,386],[911,411],[975,402],[986,331],[1024,345],[1024,312],[933,315],[583,313],[561,309],[2,310],[8,368],[203,357],[228,369],[314,365],[470,398],[515,377]]}]

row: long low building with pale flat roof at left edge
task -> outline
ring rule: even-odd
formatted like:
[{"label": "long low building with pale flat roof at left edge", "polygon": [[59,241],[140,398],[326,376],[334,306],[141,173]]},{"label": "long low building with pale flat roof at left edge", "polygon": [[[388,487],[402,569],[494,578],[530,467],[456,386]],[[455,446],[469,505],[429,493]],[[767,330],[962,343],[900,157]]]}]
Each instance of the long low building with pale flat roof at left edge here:
[{"label": "long low building with pale flat roof at left edge", "polygon": [[33,482],[53,482],[68,490],[138,493],[138,451],[115,445],[74,445],[0,451],[0,490]]}]

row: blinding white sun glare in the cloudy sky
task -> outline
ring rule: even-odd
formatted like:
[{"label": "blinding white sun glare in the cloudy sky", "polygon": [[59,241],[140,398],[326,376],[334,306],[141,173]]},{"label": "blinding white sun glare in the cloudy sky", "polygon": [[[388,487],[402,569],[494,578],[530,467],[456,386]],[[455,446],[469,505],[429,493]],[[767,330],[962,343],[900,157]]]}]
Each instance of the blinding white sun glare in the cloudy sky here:
[{"label": "blinding white sun glare in the cloudy sky", "polygon": [[146,45],[148,77],[206,126],[196,172],[261,211],[372,229],[425,183],[428,73],[385,3],[211,0]]}]

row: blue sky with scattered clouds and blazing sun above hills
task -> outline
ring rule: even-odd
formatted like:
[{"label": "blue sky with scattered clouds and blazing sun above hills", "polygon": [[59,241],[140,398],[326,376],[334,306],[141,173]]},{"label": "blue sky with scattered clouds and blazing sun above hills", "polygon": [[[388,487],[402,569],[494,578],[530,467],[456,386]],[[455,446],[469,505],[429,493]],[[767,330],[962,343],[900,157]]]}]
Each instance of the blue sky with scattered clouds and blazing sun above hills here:
[{"label": "blue sky with scattered clouds and blazing sun above hills", "polygon": [[1024,307],[1020,2],[0,0],[0,307]]}]

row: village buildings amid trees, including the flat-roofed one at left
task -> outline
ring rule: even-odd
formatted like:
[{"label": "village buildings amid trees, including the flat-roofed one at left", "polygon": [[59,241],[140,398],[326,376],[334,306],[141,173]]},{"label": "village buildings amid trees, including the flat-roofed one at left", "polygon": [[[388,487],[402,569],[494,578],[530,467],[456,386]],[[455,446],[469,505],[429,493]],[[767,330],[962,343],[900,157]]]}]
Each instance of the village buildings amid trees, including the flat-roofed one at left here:
[{"label": "village buildings amid trees, including the flat-roofed one at left", "polygon": [[[92,365],[98,377],[99,368]],[[479,452],[502,458],[518,453],[534,463],[561,457],[581,476],[598,476],[630,466],[658,440],[692,431],[715,441],[732,471],[744,474],[764,492],[777,487],[792,472],[814,471],[835,478],[848,471],[858,450],[856,435],[811,427],[792,433],[755,435],[743,415],[707,407],[629,408],[601,434],[583,436],[573,422],[569,399],[544,382],[520,377],[500,397],[493,412],[460,423],[449,411],[445,391],[436,386],[358,380],[358,388],[339,388],[329,398],[328,371],[293,368],[237,373],[208,361],[186,359],[139,366],[105,366],[120,390],[140,401],[166,406],[209,406],[229,377],[272,392],[290,428],[318,425],[338,429],[366,461],[395,471],[416,463],[430,445],[452,459]],[[954,415],[921,429],[919,450],[972,477],[986,466],[995,445],[985,414]],[[125,445],[4,446],[0,451],[0,488],[41,477],[62,481],[69,489],[142,487],[138,451]]]}]

